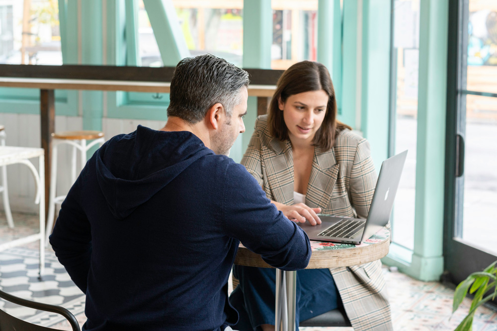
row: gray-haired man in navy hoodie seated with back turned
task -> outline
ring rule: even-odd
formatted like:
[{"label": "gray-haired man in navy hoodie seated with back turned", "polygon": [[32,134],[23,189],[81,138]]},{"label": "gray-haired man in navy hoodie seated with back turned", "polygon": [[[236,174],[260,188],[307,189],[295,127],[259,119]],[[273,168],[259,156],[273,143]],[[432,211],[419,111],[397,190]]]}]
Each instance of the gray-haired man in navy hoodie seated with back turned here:
[{"label": "gray-haired man in navy hoodie seated with back turned", "polygon": [[306,234],[226,156],[245,132],[247,87],[223,59],[184,59],[166,126],[114,136],[87,162],[50,236],[86,294],[83,330],[231,330],[240,242],[274,267],[307,266]]}]

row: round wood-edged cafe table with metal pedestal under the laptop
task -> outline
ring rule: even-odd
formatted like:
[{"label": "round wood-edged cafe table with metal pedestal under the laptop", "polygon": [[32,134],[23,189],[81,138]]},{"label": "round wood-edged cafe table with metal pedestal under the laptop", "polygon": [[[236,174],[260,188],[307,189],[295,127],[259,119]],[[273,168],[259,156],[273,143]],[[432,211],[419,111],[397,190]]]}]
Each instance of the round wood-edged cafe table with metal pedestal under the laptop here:
[{"label": "round wood-edged cafe table with metal pedestal under the laptop", "polygon": [[[312,256],[306,269],[336,268],[340,266],[362,265],[379,260],[388,254],[390,231],[380,229],[371,238],[359,245],[337,244],[311,240]],[[236,265],[272,268],[260,255],[249,251],[240,244]],[[276,320],[283,331],[295,331],[295,288],[297,271],[276,269]],[[280,330],[276,328],[276,330]]]}]

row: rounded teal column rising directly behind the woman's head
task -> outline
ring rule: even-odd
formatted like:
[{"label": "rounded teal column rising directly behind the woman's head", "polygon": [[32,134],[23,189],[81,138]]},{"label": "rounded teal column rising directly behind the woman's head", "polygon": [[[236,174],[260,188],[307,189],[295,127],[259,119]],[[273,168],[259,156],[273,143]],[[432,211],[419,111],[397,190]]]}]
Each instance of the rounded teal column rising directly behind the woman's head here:
[{"label": "rounded teal column rising directly behind the woman's head", "polygon": [[341,113],[342,102],[341,30],[340,0],[319,0],[318,62],[325,65],[330,71],[338,113]]}]

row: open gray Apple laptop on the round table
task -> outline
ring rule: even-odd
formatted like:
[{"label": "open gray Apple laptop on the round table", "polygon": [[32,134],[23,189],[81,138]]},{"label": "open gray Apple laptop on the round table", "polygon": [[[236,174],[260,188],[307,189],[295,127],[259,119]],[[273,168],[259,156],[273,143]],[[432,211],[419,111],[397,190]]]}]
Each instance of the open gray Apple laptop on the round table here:
[{"label": "open gray Apple laptop on the round table", "polygon": [[386,159],[381,164],[373,200],[366,219],[320,214],[321,224],[312,226],[309,222],[305,222],[298,223],[298,225],[311,240],[360,244],[362,240],[369,239],[390,219],[406,156],[407,150]]}]

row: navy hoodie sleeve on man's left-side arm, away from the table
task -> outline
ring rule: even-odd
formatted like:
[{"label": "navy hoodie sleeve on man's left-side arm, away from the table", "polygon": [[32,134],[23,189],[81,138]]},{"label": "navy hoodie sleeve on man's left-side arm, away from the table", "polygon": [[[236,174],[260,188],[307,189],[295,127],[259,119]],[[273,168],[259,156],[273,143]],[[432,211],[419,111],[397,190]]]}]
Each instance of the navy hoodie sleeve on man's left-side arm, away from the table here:
[{"label": "navy hoodie sleeve on man's left-side arm, away from the table", "polygon": [[[83,172],[82,172],[83,174]],[[74,283],[86,293],[91,257],[90,223],[80,205],[82,175],[62,203],[50,244]]]}]

